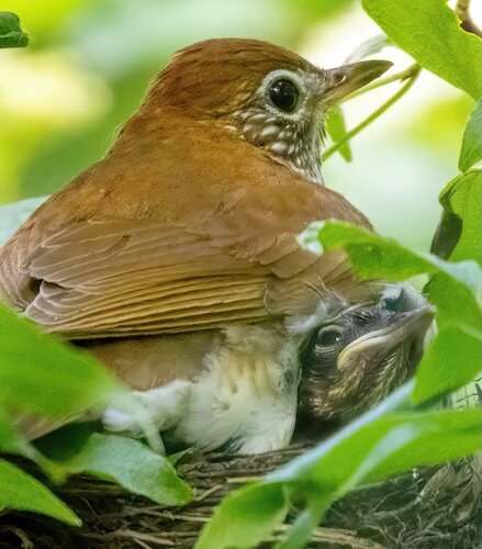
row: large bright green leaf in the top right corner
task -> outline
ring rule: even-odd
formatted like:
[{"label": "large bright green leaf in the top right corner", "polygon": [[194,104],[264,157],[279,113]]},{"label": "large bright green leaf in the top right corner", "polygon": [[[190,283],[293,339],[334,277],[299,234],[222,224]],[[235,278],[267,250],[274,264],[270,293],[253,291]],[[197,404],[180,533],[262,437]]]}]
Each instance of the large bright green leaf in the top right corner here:
[{"label": "large bright green leaf in the top right corner", "polygon": [[362,0],[362,5],[419,65],[479,99],[482,41],[460,27],[446,0]]}]

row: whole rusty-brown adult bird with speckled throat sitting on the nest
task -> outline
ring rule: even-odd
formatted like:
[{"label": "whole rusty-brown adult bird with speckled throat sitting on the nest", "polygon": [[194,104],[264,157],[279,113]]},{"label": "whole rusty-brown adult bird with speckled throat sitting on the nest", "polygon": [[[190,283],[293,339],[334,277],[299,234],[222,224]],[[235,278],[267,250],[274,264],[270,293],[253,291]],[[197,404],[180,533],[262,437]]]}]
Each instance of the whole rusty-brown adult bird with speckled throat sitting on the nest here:
[{"label": "whole rusty-brown adult bird with speckled throat sitting on the nest", "polygon": [[[105,158],[0,250],[0,295],[89,349],[134,390],[177,381],[171,407],[164,406],[169,399],[146,396],[155,425],[173,426],[169,410],[188,407],[198,423],[181,422],[181,438],[260,451],[262,440],[251,442],[262,438],[253,434],[256,414],[245,413],[257,395],[256,406],[284,425],[269,444],[287,444],[299,350],[296,338],[287,340],[287,322],[315,314],[334,293],[356,303],[378,291],[354,280],[344,253],[315,257],[296,240],[312,221],[370,228],[322,184],[326,111],[389,66],[324,70],[247,40],[183,49]],[[198,417],[210,394],[218,406]],[[285,404],[272,406],[271,394]],[[291,412],[278,421],[278,408]],[[52,428],[36,419],[21,418],[29,437]],[[201,421],[213,429],[193,437]],[[117,414],[122,422],[130,419]]]}]

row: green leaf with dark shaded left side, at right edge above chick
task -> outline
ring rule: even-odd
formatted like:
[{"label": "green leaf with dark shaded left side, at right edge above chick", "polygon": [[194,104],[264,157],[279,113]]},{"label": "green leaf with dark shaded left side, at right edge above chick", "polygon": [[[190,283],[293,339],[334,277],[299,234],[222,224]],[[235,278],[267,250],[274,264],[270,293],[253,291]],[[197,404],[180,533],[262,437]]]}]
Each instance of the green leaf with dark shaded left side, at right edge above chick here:
[{"label": "green leaf with dark shaded left side, at right edge above chick", "polygon": [[431,243],[434,254],[482,265],[481,197],[482,168],[478,166],[452,179],[441,191],[444,214]]}]

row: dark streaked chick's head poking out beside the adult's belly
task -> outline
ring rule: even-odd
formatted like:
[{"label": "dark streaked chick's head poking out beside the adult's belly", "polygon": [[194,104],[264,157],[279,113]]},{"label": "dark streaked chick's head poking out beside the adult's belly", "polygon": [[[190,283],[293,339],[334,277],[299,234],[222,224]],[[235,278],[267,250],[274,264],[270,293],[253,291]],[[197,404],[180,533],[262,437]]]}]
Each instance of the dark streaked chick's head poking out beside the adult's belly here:
[{"label": "dark streaked chick's head poking out beside the adult's belly", "polygon": [[313,426],[346,422],[415,371],[433,307],[408,285],[329,312],[301,346],[299,414]]}]

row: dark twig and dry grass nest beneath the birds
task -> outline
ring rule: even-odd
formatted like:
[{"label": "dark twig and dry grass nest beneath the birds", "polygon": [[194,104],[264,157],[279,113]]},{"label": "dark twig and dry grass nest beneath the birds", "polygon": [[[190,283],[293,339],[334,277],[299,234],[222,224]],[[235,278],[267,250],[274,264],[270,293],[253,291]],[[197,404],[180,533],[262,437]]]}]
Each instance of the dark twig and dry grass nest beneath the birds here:
[{"label": "dark twig and dry grass nest beneath the birds", "polygon": [[[226,493],[244,479],[265,474],[304,448],[257,456],[210,453],[179,466],[197,490],[184,507],[162,507],[88,477],[71,478],[55,491],[83,522],[66,527],[32,514],[0,518],[1,549],[190,548]],[[482,456],[421,468],[358,490],[337,502],[309,547],[335,549],[473,549],[482,542]],[[271,547],[289,528],[273,533]]]}]

